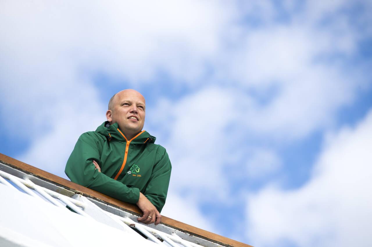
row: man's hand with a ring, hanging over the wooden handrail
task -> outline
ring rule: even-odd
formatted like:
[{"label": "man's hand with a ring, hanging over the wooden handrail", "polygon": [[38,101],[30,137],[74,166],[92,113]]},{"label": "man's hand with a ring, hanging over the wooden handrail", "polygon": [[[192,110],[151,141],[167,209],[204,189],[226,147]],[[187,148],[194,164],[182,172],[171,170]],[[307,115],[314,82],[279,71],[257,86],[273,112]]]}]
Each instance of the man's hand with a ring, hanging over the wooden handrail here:
[{"label": "man's hand with a ring, hanging over the wooden handrail", "polygon": [[137,202],[137,206],[142,210],[143,216],[138,218],[137,221],[144,224],[159,224],[161,221],[161,215],[155,206],[140,192],[140,199]]}]

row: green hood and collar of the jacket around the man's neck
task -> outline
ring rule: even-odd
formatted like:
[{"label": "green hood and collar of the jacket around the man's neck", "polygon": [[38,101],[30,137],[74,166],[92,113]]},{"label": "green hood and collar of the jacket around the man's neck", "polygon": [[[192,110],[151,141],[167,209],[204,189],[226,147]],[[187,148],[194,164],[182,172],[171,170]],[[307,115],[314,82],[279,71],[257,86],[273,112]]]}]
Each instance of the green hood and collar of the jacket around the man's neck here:
[{"label": "green hood and collar of the jacket around the man's neck", "polygon": [[[125,138],[123,137],[124,132],[119,129],[118,123],[113,123],[112,125],[109,125],[110,123],[108,121],[103,122],[98,128],[96,129],[96,132],[103,135],[108,139],[109,141],[112,141],[113,139],[126,142]],[[106,127],[107,126],[107,127]],[[123,133],[123,135],[121,134]],[[128,139],[128,138],[127,138]],[[146,142],[155,142],[155,136],[152,136],[148,134],[147,131],[143,131],[140,135],[138,135],[136,138],[134,138],[131,143],[132,144],[143,144]],[[130,140],[128,140],[130,141]]]}]

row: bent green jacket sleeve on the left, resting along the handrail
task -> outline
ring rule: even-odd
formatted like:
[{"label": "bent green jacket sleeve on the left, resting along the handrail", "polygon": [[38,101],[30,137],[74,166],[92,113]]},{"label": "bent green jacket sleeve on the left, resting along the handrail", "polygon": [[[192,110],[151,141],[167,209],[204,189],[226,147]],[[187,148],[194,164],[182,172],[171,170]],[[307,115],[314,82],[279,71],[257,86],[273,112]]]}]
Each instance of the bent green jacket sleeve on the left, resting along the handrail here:
[{"label": "bent green jacket sleeve on the left, resting along the handrail", "polygon": [[102,194],[121,201],[137,203],[140,198],[138,188],[127,187],[95,169],[93,160],[100,164],[100,143],[93,136],[94,134],[86,132],[79,137],[70,158],[67,160],[66,175],[72,182]]}]

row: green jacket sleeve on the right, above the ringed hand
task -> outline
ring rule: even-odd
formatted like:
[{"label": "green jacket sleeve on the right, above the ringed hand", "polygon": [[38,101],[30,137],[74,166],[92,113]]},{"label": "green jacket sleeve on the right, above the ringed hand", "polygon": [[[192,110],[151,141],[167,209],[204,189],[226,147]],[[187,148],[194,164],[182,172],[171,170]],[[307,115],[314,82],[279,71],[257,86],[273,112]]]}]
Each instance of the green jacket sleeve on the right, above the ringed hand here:
[{"label": "green jacket sleeve on the right, above the ringed hand", "polygon": [[159,149],[161,150],[158,150],[158,155],[161,158],[155,164],[150,180],[142,193],[161,212],[167,198],[172,166],[165,148]]}]

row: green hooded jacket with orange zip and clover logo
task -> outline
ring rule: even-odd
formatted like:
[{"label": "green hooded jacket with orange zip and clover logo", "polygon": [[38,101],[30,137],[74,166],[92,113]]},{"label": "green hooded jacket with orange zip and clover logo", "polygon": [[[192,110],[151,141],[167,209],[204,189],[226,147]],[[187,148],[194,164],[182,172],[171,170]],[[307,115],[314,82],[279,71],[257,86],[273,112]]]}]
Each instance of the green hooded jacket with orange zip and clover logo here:
[{"label": "green hooded jacket with orange zip and clover logo", "polygon": [[[164,206],[171,164],[155,137],[142,131],[127,140],[118,123],[102,123],[82,134],[68,158],[65,173],[71,181],[121,201],[136,203],[140,192],[160,212]],[[101,172],[94,169],[95,160]]]}]

